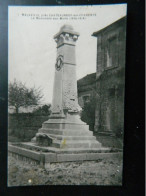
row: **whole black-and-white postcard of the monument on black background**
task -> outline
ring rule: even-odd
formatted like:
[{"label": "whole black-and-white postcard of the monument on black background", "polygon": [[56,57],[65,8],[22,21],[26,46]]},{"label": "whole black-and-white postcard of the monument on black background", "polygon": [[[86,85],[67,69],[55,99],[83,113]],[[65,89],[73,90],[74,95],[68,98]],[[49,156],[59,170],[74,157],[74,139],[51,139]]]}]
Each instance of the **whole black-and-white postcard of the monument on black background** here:
[{"label": "whole black-and-white postcard of the monument on black background", "polygon": [[123,185],[127,4],[8,7],[8,187]]}]

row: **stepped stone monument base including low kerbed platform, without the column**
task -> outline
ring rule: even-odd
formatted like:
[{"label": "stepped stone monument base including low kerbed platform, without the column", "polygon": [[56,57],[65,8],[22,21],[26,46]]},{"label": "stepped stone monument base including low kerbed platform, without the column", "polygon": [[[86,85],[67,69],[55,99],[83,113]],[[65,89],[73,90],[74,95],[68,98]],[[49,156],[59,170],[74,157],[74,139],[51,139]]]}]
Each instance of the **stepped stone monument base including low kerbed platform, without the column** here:
[{"label": "stepped stone monument base including low kerbed platform, without the column", "polygon": [[8,151],[12,156],[45,168],[52,162],[93,161],[117,154],[111,148],[102,147],[89,126],[74,114],[50,118],[31,142],[9,144]]}]

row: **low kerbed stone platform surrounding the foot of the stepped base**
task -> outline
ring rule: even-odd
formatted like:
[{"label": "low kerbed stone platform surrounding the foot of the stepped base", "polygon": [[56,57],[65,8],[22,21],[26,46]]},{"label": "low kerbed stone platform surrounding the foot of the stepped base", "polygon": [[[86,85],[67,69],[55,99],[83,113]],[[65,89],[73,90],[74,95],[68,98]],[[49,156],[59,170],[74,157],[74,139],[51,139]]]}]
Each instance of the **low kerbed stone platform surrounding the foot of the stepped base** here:
[{"label": "low kerbed stone platform surrounding the foot of the stepped base", "polygon": [[122,157],[123,153],[110,148],[95,149],[57,149],[53,147],[40,147],[32,142],[15,143],[8,145],[10,156],[30,164],[37,164],[49,168],[50,163],[73,162],[73,161],[96,161],[111,157]]}]

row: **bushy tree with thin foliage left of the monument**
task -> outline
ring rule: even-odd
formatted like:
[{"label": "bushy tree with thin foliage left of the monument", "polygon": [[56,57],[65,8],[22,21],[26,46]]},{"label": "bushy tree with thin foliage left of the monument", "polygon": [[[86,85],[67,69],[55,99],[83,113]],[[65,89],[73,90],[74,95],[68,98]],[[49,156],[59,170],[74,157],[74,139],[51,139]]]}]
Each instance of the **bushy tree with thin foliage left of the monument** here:
[{"label": "bushy tree with thin foliage left of the monument", "polygon": [[8,96],[9,105],[15,107],[16,113],[19,112],[21,106],[38,105],[43,97],[40,88],[35,86],[28,88],[22,82],[16,81],[16,79],[14,82],[9,83]]}]

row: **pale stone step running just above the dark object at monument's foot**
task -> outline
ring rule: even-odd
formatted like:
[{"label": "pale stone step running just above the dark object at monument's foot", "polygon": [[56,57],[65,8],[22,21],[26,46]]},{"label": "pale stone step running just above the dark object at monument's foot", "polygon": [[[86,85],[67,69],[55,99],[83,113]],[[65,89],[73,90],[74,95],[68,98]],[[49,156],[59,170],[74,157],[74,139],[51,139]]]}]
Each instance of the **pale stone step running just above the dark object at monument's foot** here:
[{"label": "pale stone step running just above the dark object at monument's foot", "polygon": [[46,133],[46,134],[55,134],[55,135],[64,135],[64,136],[93,136],[92,131],[86,130],[70,130],[70,129],[47,129],[41,128],[38,130],[39,133]]}]

